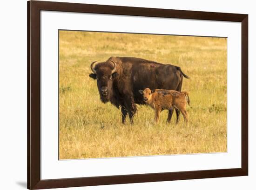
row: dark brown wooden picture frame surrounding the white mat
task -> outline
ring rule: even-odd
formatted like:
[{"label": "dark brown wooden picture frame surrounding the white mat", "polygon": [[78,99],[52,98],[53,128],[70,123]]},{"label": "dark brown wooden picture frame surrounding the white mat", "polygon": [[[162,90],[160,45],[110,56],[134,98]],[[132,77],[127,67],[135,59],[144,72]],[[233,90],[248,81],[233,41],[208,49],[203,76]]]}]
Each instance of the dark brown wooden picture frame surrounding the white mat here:
[{"label": "dark brown wooden picture frame surrounding the white mat", "polygon": [[[242,167],[121,176],[40,179],[40,11],[102,13],[242,23]],[[27,188],[47,189],[248,175],[248,15],[49,1],[27,2]]]}]

